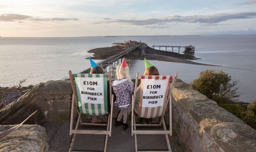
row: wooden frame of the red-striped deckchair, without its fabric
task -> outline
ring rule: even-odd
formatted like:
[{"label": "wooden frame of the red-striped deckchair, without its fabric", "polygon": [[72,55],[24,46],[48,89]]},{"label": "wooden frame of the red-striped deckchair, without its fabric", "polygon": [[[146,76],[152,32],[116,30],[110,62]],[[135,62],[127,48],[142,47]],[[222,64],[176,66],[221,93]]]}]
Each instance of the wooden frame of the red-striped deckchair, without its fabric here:
[{"label": "wooden frame of the red-striped deckchair, without its fabric", "polygon": [[[165,126],[165,120],[164,120],[164,116],[162,115],[160,118],[160,122],[159,124],[136,124],[135,122],[135,114],[134,114],[134,104],[135,104],[135,98],[136,98],[136,92],[137,92],[137,85],[138,85],[138,79],[141,79],[141,76],[139,76],[139,73],[137,72],[136,75],[136,82],[135,82],[135,89],[134,89],[134,95],[132,96],[132,116],[131,116],[131,130],[132,130],[132,136],[134,135],[135,138],[135,151],[138,152],[137,149],[137,134],[165,134],[165,138],[166,138],[166,142],[167,142],[167,146],[168,146],[168,150],[171,152],[171,145],[169,142],[169,137],[168,134],[170,136],[172,136],[172,89],[174,87],[175,81],[178,77],[178,73],[175,74],[174,78],[172,79],[172,84],[169,87],[169,95],[167,97],[167,101],[164,107],[167,107],[168,102],[169,102],[169,130],[166,129]],[[166,109],[163,109],[165,113]],[[136,126],[146,126],[146,127],[160,127],[163,125],[164,130],[136,130]]]}]

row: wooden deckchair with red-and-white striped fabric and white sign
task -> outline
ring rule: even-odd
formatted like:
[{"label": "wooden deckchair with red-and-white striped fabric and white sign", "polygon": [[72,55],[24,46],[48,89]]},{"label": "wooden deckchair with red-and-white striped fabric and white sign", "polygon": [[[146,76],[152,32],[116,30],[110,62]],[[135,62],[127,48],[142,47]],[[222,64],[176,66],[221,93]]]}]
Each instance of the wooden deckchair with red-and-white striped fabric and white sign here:
[{"label": "wooden deckchair with red-and-white striped fabric and white sign", "polygon": [[[168,134],[172,136],[172,88],[177,79],[178,74],[175,74],[171,86],[169,86],[172,76],[159,76],[159,75],[142,75],[137,73],[135,86],[140,82],[140,99],[138,117],[141,118],[155,118],[161,116],[159,124],[136,124],[134,115],[134,104],[137,92],[135,87],[134,95],[132,97],[132,116],[131,116],[131,130],[132,136],[135,138],[135,151],[137,152],[137,134],[165,134],[168,150],[171,150]],[[169,102],[169,130],[165,126],[165,110]],[[160,127],[163,125],[164,130],[136,130],[136,126],[146,127]]]}]

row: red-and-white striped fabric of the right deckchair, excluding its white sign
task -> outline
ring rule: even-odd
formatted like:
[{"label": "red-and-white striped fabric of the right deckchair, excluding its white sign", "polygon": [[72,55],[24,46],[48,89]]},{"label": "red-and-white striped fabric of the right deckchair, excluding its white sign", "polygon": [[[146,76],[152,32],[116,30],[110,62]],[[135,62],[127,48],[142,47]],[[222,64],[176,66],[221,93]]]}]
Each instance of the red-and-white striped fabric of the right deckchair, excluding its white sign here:
[{"label": "red-and-white striped fabric of the right deckchair, excluding its white sign", "polygon": [[[140,100],[139,100],[139,111],[138,116],[142,118],[155,118],[158,116],[163,116],[165,114],[166,109],[166,102],[167,102],[167,95],[169,90],[169,83],[170,79],[172,79],[172,76],[155,76],[155,75],[142,75],[141,76],[141,82],[140,82]],[[142,97],[143,97],[143,85],[144,80],[165,80],[166,81],[166,88],[165,88],[165,96],[164,96],[164,102],[162,106],[158,107],[142,107]]]}]

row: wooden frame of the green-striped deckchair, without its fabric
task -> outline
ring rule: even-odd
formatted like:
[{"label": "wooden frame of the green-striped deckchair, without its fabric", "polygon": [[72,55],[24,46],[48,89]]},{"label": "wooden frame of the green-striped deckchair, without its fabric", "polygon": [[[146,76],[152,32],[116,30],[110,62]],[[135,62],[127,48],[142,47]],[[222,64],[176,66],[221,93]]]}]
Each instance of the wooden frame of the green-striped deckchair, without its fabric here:
[{"label": "wooden frame of the green-striped deckchair, without its fabric", "polygon": [[[74,76],[71,71],[69,71],[69,77],[70,77],[70,82],[73,90],[73,95],[72,95],[72,105],[71,105],[71,116],[70,116],[70,130],[69,130],[69,135],[73,134],[71,144],[69,147],[69,152],[72,152],[74,142],[75,142],[75,137],[76,134],[101,134],[101,135],[106,135],[105,138],[105,146],[104,146],[104,152],[107,149],[107,141],[108,141],[108,136],[111,136],[111,128],[112,128],[112,113],[113,113],[113,95],[112,95],[112,87],[111,87],[111,71],[109,71],[109,74],[107,74],[107,78],[109,78],[109,92],[110,96],[110,105],[111,105],[111,111],[108,114],[108,123],[107,124],[101,124],[101,123],[83,123],[79,109],[78,109],[78,98],[76,94],[76,86],[74,82]],[[74,107],[74,103],[76,104],[76,108]],[[78,114],[78,119],[76,122],[76,127],[73,130],[73,113],[74,113],[74,108],[77,111]],[[107,126],[107,130],[78,130],[78,126]]]}]

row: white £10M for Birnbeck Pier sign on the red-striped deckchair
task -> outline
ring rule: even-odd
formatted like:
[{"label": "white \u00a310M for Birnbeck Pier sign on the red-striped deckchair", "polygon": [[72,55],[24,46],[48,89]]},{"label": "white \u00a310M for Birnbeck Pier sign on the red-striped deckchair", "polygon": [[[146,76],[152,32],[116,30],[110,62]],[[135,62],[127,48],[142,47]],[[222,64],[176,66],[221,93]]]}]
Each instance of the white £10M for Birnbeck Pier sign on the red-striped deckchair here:
[{"label": "white \u00a310M for Birnbeck Pier sign on the red-striped deckchair", "polygon": [[168,80],[144,79],[142,107],[163,105]]}]

